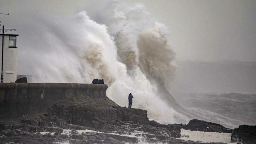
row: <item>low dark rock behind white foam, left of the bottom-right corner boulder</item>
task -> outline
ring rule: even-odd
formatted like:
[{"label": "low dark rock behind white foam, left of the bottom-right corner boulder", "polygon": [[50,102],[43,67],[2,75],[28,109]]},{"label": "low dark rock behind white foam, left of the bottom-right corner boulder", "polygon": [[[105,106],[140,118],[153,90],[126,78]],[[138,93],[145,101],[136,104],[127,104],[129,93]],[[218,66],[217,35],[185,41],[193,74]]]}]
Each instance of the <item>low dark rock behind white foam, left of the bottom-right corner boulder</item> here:
[{"label": "low dark rock behind white foam, left of the bottom-right corner boulder", "polygon": [[232,129],[225,128],[220,124],[206,122],[198,119],[192,119],[186,126],[185,129],[198,130],[203,132],[221,132],[221,133],[232,133]]}]

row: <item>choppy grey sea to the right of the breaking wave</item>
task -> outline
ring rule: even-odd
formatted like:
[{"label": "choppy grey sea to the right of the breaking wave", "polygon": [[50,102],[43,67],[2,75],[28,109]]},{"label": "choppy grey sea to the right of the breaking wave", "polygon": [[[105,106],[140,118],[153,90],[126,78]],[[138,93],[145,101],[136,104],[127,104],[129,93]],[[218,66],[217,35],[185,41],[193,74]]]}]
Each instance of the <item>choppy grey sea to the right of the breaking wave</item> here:
[{"label": "choppy grey sea to the right of the breaking wave", "polygon": [[191,113],[205,121],[227,128],[256,125],[255,94],[175,93],[176,100]]}]

